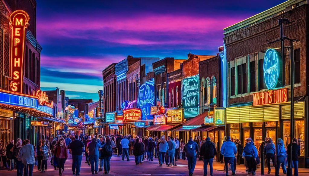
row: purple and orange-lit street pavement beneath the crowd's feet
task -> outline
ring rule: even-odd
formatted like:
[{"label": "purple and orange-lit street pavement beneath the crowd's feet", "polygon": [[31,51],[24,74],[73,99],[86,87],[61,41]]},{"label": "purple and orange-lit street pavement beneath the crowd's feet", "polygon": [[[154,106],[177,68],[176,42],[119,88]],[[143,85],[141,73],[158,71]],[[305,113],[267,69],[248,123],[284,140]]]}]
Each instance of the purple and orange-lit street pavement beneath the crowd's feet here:
[{"label": "purple and orange-lit street pavement beneath the crowd's feet", "polygon": [[[53,170],[53,166],[50,165],[50,160],[48,160],[48,166],[45,173],[40,173],[37,170],[37,167],[34,167],[33,176],[57,176],[58,170]],[[86,159],[83,157],[82,166],[80,175],[92,175],[91,174],[91,167],[85,163]],[[106,176],[147,176],[147,175],[154,175],[154,176],[185,176],[188,175],[188,163],[187,160],[180,159],[176,162],[177,166],[167,166],[163,164],[163,166],[159,166],[158,158],[154,158],[154,161],[144,161],[143,164],[135,165],[134,156],[130,156],[130,161],[122,161],[121,157],[117,157],[117,155],[113,155],[111,159],[111,168],[109,174],[104,174],[104,171],[100,171],[98,175],[106,175]],[[69,155],[69,158],[66,160],[65,169],[63,172],[63,176],[71,176],[72,175],[72,158]],[[225,176],[225,171],[223,171],[224,165],[220,162],[214,161],[214,176]],[[272,167],[271,174],[267,174],[267,168],[265,168],[265,175],[275,175],[275,169]],[[309,169],[299,169],[299,176],[307,176],[309,173]],[[283,176],[282,170],[280,170],[280,176]],[[13,176],[17,175],[16,170],[8,171],[8,170],[0,170],[1,176]],[[203,161],[197,161],[197,165],[194,170],[194,175],[202,176],[203,174]],[[210,175],[210,171],[208,168],[207,175]],[[229,170],[229,175],[232,175],[231,170]],[[237,176],[248,176],[251,174],[247,174],[245,172],[245,167],[243,165],[236,166],[236,175]],[[260,169],[256,171],[256,175],[261,175]]]}]

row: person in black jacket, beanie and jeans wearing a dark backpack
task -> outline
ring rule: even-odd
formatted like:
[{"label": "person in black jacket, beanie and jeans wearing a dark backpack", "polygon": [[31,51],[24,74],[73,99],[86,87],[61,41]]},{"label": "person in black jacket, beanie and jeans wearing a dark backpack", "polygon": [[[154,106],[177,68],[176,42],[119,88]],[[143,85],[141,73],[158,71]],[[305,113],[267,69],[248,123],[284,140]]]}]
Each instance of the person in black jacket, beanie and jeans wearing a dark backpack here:
[{"label": "person in black jacket, beanie and jeans wearing a dark backpack", "polygon": [[204,176],[207,175],[207,165],[209,164],[210,176],[213,176],[213,161],[217,155],[216,146],[210,141],[210,137],[206,138],[206,142],[201,145],[200,156],[204,159]]}]

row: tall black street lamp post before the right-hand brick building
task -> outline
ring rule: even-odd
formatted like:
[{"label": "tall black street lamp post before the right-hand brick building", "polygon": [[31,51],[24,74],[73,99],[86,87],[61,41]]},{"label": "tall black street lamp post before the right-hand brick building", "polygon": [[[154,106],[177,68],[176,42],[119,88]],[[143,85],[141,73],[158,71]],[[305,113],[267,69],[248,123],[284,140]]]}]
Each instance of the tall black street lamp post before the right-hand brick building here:
[{"label": "tall black street lamp post before the right-hand brick building", "polygon": [[[278,20],[279,26],[280,26],[280,39],[276,39],[275,41],[269,42],[269,43],[274,43],[281,41],[281,59],[283,60],[284,58],[284,40],[289,40],[290,41],[290,46],[288,47],[290,49],[290,85],[291,85],[291,102],[290,102],[290,156],[292,156],[292,140],[294,137],[294,45],[293,41],[296,39],[289,39],[286,36],[283,35],[283,24],[288,24],[290,23],[290,20],[287,18],[281,18]],[[276,143],[276,157],[278,151],[277,143]],[[292,157],[290,157],[290,167],[287,169],[287,174],[286,176],[292,176]],[[278,163],[276,163],[277,165]],[[277,167],[276,167],[276,173],[277,173]]]}]

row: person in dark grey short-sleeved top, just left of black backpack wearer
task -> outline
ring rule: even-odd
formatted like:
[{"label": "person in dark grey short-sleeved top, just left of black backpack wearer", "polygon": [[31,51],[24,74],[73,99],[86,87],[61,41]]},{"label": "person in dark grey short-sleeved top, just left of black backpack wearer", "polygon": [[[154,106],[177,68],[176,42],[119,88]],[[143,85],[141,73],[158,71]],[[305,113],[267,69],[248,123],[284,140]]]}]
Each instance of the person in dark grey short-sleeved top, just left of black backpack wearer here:
[{"label": "person in dark grey short-sleeved top, just left of black backpack wearer", "polygon": [[94,137],[92,138],[92,142],[88,144],[87,148],[90,159],[91,172],[92,174],[98,174],[99,151],[102,149],[102,145],[100,145]]}]

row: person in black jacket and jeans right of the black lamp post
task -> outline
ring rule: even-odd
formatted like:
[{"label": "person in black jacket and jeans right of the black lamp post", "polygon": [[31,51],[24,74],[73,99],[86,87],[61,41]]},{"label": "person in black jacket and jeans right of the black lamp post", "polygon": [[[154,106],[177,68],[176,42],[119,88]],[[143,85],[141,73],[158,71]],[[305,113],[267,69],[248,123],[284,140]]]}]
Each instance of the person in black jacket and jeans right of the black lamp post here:
[{"label": "person in black jacket and jeans right of the black lamp post", "polygon": [[[287,146],[288,151],[288,168],[294,167],[294,176],[298,176],[298,156],[300,156],[300,146],[297,144],[297,139],[293,138],[292,141],[292,155],[291,155],[291,144]],[[290,166],[290,159],[292,157],[292,167]]]}]

